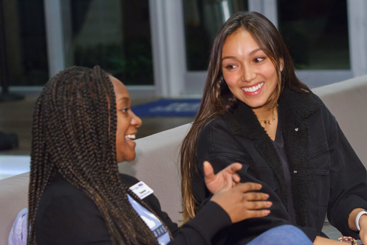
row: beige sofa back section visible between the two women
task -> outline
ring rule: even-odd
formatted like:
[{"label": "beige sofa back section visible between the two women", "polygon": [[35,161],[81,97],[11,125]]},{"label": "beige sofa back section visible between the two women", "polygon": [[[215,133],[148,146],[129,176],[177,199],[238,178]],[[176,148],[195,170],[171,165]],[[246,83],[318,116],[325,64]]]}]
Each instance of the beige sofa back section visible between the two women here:
[{"label": "beige sofa back section visible between the two women", "polygon": [[173,222],[182,220],[179,152],[191,123],[136,140],[137,156],[118,164],[119,172],[133,175],[153,189],[161,208]]}]

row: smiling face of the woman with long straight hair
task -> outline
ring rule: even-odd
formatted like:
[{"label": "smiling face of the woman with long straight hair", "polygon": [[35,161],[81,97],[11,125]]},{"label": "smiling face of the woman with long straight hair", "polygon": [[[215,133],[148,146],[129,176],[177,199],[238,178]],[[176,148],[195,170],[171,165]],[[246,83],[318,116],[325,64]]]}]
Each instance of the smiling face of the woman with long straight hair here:
[{"label": "smiling face of the woman with long straight hair", "polygon": [[246,30],[239,29],[226,38],[222,71],[232,94],[253,109],[263,108],[275,91],[275,66]]}]

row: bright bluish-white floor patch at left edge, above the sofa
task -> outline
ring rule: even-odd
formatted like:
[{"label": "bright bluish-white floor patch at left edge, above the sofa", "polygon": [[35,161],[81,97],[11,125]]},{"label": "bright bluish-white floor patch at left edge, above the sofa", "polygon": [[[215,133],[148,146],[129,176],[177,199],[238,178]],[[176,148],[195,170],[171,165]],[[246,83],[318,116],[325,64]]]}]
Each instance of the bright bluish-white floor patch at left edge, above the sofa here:
[{"label": "bright bluish-white floor patch at left edge, above the sofa", "polygon": [[0,179],[30,170],[30,156],[0,155]]}]

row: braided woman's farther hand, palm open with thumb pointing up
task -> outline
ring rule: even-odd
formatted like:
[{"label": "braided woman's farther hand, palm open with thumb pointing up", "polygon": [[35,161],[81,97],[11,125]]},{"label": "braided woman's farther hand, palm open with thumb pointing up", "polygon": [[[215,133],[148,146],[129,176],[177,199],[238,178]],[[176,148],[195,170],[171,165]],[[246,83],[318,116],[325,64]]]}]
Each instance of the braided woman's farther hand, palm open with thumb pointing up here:
[{"label": "braided woman's farther hand, palm open with thumb pointing up", "polygon": [[205,184],[206,188],[212,193],[215,194],[219,190],[221,190],[228,181],[230,181],[230,188],[234,187],[236,184],[240,182],[240,176],[236,173],[236,171],[242,168],[242,164],[240,163],[232,163],[227,168],[214,174],[213,167],[208,161],[204,162],[204,175],[205,175]]}]

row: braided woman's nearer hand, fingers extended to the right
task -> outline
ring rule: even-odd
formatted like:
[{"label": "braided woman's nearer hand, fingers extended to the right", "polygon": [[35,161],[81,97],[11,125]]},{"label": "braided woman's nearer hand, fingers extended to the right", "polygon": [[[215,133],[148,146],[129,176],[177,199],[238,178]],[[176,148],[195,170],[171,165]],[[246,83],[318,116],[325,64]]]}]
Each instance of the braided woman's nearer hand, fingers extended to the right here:
[{"label": "braided woman's nearer hand, fingers extended to the right", "polygon": [[232,223],[270,214],[270,210],[265,209],[273,205],[271,201],[266,201],[269,195],[251,192],[260,190],[262,188],[260,184],[247,182],[231,187],[230,179],[231,176],[226,185],[210,200],[216,202],[227,212]]}]

